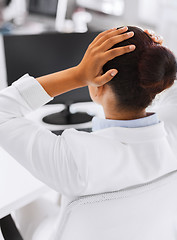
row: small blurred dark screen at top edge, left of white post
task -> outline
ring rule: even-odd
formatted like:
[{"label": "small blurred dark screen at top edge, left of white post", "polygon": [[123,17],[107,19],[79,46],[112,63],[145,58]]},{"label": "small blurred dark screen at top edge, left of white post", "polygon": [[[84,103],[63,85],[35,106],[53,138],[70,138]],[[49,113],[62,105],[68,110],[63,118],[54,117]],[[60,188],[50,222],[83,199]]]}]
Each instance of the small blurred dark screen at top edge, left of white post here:
[{"label": "small blurred dark screen at top edge, left of white post", "polygon": [[55,17],[57,13],[57,5],[58,0],[30,0],[29,12]]}]

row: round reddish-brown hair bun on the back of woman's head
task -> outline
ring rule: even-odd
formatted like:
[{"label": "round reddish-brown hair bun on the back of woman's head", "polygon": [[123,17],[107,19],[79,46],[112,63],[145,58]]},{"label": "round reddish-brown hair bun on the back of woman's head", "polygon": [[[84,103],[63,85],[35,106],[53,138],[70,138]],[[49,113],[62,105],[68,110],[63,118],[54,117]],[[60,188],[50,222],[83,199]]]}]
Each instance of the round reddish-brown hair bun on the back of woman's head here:
[{"label": "round reddish-brown hair bun on the back of woman's head", "polygon": [[142,53],[138,69],[140,87],[157,94],[174,83],[176,59],[170,50],[154,44]]}]

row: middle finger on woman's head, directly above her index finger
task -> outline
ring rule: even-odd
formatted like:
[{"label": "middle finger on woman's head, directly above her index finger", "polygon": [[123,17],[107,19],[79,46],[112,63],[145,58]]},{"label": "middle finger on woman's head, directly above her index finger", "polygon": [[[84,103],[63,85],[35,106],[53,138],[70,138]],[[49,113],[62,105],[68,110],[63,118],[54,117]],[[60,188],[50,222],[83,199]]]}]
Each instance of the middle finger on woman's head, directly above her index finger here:
[{"label": "middle finger on woman's head, directly above her index finger", "polygon": [[107,51],[108,49],[110,49],[115,44],[123,42],[123,41],[125,41],[125,40],[127,40],[127,39],[129,39],[133,36],[134,36],[134,32],[128,32],[128,33],[124,33],[124,34],[109,38],[99,47],[99,50]]}]

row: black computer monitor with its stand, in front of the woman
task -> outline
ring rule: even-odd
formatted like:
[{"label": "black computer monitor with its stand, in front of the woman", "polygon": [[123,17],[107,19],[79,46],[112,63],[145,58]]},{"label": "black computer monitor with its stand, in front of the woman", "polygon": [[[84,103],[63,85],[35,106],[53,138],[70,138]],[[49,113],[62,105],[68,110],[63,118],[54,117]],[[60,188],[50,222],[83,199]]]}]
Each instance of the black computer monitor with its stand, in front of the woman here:
[{"label": "black computer monitor with its stand, in front of the woman", "polygon": [[[39,77],[76,66],[98,32],[45,33],[40,35],[5,35],[4,49],[7,82],[11,85],[25,73]],[[71,114],[70,105],[91,101],[88,88],[57,96],[50,104],[65,104],[64,111],[44,117],[49,124],[78,124],[91,120],[86,113]]]}]

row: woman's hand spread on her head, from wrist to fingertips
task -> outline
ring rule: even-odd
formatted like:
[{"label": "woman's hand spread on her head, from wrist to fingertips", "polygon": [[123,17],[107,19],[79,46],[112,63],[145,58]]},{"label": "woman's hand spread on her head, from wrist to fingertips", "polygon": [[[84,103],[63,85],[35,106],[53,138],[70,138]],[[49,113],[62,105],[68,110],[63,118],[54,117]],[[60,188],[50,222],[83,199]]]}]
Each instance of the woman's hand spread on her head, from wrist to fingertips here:
[{"label": "woman's hand spread on her head, from wrist to fingertips", "polygon": [[111,69],[102,75],[106,62],[123,54],[131,54],[135,45],[125,45],[112,49],[117,43],[123,42],[134,36],[134,32],[127,32],[128,28],[110,29],[100,33],[89,45],[81,63],[77,66],[78,79],[84,86],[102,86],[112,80],[117,74],[116,69]]}]

